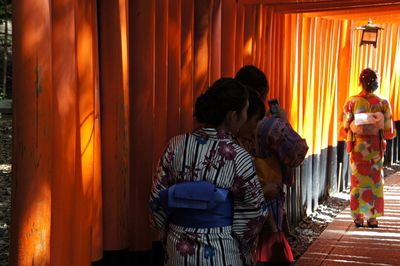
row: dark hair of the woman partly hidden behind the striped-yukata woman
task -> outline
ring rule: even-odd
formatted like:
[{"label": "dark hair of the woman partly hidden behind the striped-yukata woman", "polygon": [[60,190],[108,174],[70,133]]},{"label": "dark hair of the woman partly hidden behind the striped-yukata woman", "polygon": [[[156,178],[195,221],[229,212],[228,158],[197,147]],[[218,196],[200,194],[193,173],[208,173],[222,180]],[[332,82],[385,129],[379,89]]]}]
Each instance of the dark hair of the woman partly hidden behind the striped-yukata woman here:
[{"label": "dark hair of the woman partly hidden behind the striped-yukata woman", "polygon": [[267,77],[259,68],[253,65],[246,65],[239,69],[235,79],[253,89],[259,97],[268,93]]}]

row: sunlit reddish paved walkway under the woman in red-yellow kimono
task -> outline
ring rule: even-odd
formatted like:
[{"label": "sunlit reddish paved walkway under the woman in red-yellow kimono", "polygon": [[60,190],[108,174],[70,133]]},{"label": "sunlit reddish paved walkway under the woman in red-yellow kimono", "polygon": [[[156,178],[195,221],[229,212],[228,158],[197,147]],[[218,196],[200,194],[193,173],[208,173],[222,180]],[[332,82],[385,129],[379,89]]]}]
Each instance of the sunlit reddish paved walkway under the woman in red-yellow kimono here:
[{"label": "sunlit reddish paved walkway under the woman in red-yellow kimono", "polygon": [[400,172],[386,178],[384,199],[378,228],[356,228],[347,207],[296,265],[400,265]]}]

